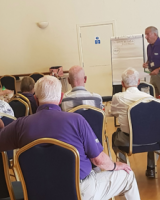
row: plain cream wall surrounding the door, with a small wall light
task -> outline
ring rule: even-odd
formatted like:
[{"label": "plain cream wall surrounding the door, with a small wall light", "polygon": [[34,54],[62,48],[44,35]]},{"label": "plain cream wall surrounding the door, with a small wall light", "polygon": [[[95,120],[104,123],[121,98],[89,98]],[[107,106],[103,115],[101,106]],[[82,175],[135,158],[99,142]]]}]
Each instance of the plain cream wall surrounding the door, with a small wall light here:
[{"label": "plain cream wall surrounding the door, with a small wall light", "polygon": [[159,0],[1,0],[0,75],[67,70],[80,64],[77,24],[115,20],[116,35],[144,33],[160,29],[159,7]]}]

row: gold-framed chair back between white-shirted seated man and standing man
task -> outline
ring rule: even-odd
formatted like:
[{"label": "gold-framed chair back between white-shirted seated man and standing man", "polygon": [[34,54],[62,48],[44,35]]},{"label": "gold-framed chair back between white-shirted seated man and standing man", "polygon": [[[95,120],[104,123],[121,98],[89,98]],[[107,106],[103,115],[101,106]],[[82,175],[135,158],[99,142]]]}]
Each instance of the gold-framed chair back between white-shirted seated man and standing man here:
[{"label": "gold-framed chair back between white-shirted seated man and standing man", "polygon": [[152,84],[141,81],[140,84],[138,85],[138,89],[142,92],[146,92],[150,95],[152,95],[153,97],[156,97],[155,95],[155,88]]}]

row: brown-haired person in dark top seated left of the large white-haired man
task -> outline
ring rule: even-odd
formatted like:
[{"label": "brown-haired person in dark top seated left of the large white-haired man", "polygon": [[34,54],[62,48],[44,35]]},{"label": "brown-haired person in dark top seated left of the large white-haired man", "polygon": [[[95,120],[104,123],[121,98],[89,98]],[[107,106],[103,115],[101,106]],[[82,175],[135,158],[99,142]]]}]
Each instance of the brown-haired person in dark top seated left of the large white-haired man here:
[{"label": "brown-haired person in dark top seated left of the large white-haired man", "polygon": [[22,94],[27,97],[31,103],[32,113],[34,114],[37,110],[37,103],[34,98],[34,80],[33,78],[26,76],[21,81],[21,92]]}]

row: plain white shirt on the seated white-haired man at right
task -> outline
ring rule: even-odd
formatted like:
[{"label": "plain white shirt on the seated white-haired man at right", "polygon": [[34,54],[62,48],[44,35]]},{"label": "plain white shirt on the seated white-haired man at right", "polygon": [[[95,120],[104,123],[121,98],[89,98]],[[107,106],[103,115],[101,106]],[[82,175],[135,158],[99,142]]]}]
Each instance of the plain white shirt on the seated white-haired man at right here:
[{"label": "plain white shirt on the seated white-haired man at right", "polygon": [[152,97],[150,94],[141,92],[136,87],[129,87],[125,92],[119,92],[112,98],[111,114],[118,117],[121,131],[130,133],[128,123],[128,107],[132,103],[144,97]]}]

